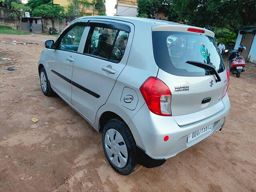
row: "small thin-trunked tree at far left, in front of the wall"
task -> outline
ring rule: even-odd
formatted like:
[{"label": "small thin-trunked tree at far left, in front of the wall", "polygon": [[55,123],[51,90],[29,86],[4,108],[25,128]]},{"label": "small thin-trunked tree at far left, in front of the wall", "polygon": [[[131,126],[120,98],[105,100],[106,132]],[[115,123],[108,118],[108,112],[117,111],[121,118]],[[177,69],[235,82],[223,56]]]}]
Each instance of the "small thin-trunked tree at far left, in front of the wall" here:
[{"label": "small thin-trunked tree at far left, in front of the wall", "polygon": [[21,20],[24,18],[24,13],[29,10],[28,7],[26,7],[24,4],[18,4],[15,2],[12,2],[11,4],[12,10],[14,12],[10,13],[8,16],[14,17],[14,19],[17,21],[17,28],[21,30]]}]

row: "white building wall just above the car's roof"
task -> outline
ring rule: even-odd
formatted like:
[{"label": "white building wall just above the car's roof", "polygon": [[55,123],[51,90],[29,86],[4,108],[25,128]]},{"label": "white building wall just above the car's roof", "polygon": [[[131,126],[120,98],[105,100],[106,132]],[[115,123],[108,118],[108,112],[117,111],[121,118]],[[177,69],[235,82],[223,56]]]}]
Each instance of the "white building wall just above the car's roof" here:
[{"label": "white building wall just above the car's roof", "polygon": [[118,2],[116,5],[116,16],[136,17],[138,15],[136,4],[126,4]]}]

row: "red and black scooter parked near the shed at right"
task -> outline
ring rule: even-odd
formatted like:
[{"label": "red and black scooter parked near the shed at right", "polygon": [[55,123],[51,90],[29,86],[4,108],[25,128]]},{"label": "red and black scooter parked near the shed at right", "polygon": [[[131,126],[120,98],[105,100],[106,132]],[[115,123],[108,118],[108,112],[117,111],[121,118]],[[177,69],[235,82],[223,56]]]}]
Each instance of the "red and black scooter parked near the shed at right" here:
[{"label": "red and black scooter parked near the shed at right", "polygon": [[[239,78],[240,73],[245,70],[245,60],[243,57],[240,57],[243,50],[246,50],[246,47],[244,45],[240,45],[238,50],[233,49],[228,53],[229,70],[232,74],[236,74],[237,78]],[[225,52],[228,52],[228,50],[225,50]]]}]

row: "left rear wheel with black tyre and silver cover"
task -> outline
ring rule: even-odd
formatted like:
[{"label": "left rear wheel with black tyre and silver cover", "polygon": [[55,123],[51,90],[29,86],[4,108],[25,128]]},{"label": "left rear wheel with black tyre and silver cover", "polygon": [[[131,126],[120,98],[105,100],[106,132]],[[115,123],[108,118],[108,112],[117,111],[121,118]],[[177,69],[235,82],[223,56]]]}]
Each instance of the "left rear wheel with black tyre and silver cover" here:
[{"label": "left rear wheel with black tyre and silver cover", "polygon": [[130,175],[141,167],[136,160],[135,140],[128,126],[118,120],[109,120],[102,131],[102,146],[112,168],[122,174]]}]

